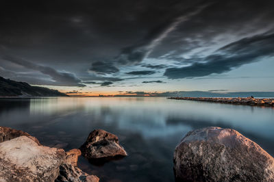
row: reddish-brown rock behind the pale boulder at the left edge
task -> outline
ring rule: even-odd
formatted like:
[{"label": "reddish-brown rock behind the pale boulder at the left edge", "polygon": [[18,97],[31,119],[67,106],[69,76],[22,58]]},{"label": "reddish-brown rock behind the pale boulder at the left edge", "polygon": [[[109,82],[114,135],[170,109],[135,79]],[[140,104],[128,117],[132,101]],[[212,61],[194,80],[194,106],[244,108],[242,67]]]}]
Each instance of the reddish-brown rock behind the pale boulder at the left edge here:
[{"label": "reddish-brown rock behind the pale boulder at the left edge", "polygon": [[21,130],[11,129],[9,127],[0,127],[0,143],[12,140],[14,138],[18,138],[20,136],[27,136],[28,138],[31,138],[32,140],[34,140],[34,142],[40,145],[40,142],[37,140],[37,138],[29,135],[29,133]]}]

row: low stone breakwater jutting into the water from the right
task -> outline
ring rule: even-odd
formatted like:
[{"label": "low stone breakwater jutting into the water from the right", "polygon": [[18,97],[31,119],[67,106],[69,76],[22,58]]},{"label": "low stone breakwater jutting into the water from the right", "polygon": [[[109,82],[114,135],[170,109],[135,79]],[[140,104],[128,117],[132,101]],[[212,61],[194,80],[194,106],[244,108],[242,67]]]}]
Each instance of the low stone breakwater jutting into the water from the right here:
[{"label": "low stone breakwater jutting into the water from the right", "polygon": [[238,105],[260,105],[267,107],[274,107],[274,99],[255,99],[252,97],[237,97],[237,98],[224,98],[224,97],[169,97],[168,99],[188,100],[188,101],[206,101],[213,103],[229,103]]}]

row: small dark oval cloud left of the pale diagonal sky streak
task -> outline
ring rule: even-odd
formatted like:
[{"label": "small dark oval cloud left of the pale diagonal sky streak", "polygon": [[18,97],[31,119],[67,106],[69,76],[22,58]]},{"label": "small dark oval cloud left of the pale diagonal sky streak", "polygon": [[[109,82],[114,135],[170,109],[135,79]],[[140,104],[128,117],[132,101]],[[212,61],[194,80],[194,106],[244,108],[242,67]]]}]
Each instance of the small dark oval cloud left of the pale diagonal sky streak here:
[{"label": "small dark oval cloud left of the pale diagonal sky streak", "polygon": [[98,74],[110,74],[119,72],[118,68],[108,62],[94,62],[92,63],[89,70]]}]

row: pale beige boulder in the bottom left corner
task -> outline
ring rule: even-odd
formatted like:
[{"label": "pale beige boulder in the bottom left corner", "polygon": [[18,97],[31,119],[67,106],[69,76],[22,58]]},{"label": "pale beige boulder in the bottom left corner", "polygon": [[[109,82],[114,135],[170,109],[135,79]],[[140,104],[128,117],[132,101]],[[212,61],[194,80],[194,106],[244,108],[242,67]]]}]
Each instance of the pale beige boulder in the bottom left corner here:
[{"label": "pale beige boulder in the bottom left corner", "polygon": [[0,143],[0,181],[54,181],[64,150],[39,145],[27,136]]}]

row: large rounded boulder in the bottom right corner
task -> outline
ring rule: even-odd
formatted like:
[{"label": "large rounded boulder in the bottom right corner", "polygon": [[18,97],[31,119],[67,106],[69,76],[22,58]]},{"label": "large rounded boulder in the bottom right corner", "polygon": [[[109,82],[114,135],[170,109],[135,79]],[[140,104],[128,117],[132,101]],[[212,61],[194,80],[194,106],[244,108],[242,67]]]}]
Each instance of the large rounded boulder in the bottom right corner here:
[{"label": "large rounded boulder in the bottom right corner", "polygon": [[274,181],[274,159],[234,129],[190,131],[174,153],[176,181]]}]

